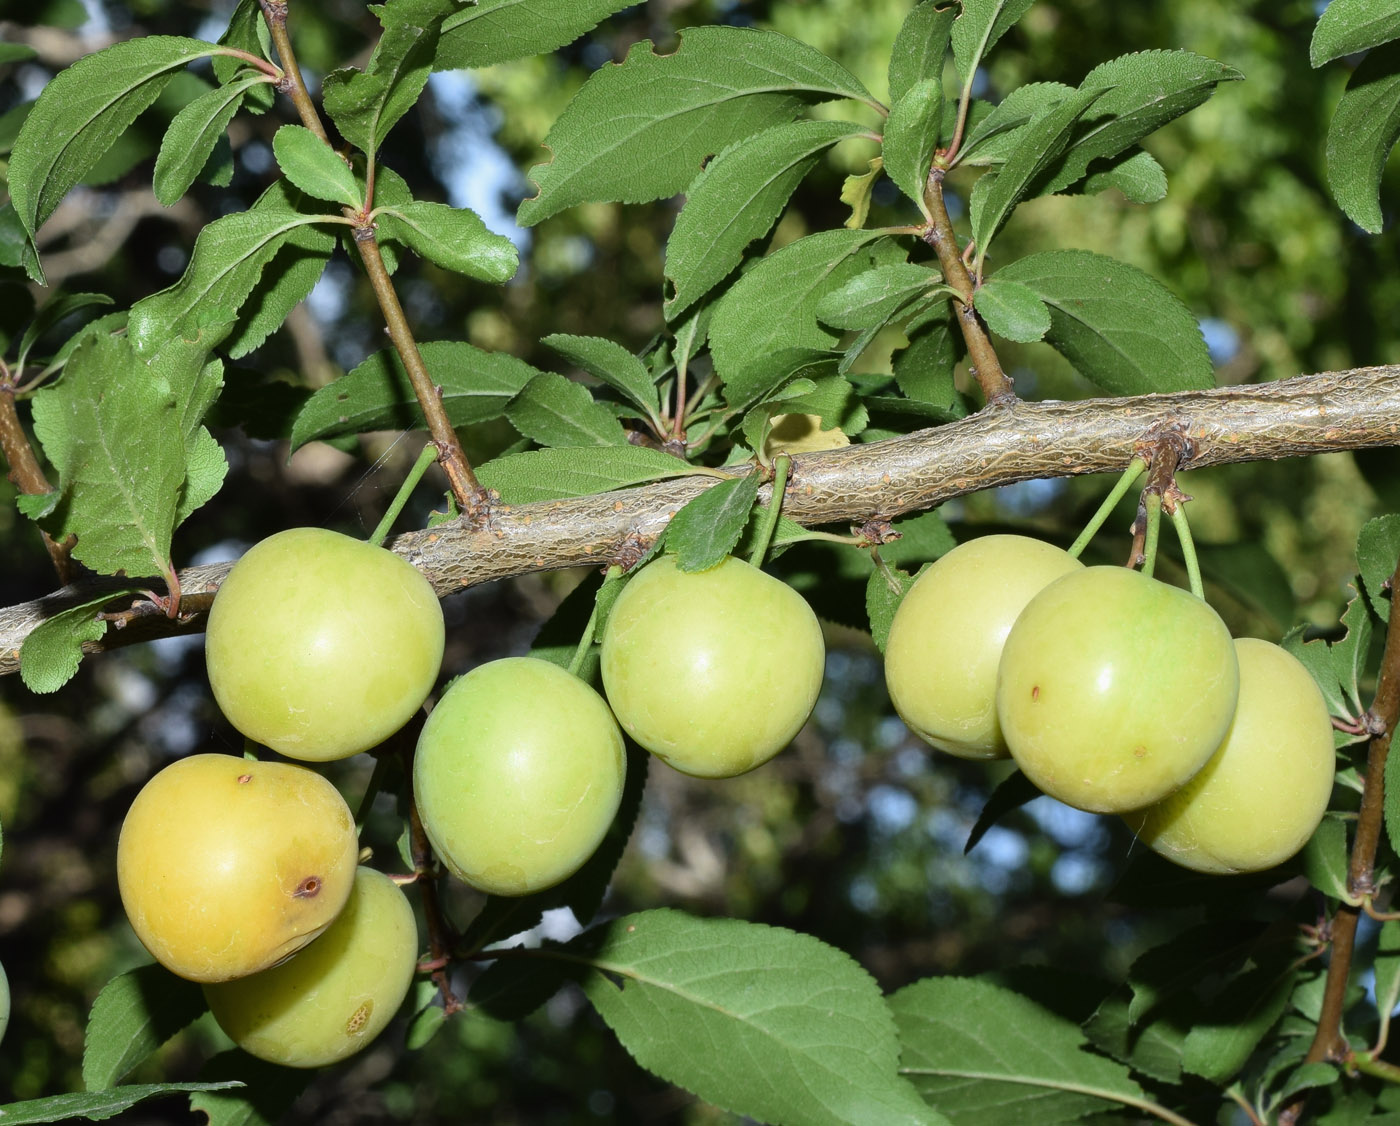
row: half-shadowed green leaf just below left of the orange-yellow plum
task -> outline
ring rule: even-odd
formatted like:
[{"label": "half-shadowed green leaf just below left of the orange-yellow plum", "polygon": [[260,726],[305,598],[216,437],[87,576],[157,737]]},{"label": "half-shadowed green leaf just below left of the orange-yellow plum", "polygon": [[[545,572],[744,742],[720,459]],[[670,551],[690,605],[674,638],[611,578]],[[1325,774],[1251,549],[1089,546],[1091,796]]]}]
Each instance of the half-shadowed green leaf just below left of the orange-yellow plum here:
[{"label": "half-shadowed green leaf just below left of the orange-yellow plum", "polygon": [[101,1091],[209,1008],[204,992],[160,965],[127,971],[97,994],[83,1038],[83,1084]]}]

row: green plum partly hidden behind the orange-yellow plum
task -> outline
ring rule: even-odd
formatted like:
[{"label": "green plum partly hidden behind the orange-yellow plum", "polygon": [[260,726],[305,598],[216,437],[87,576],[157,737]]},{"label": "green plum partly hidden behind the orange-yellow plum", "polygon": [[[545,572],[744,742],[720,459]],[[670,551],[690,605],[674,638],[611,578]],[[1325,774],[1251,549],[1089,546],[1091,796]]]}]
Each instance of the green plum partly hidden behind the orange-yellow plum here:
[{"label": "green plum partly hidden behind the orange-yellow plum", "polygon": [[350,901],[315,943],[281,965],[204,986],[239,1048],[284,1067],[325,1067],[354,1055],[399,1011],[413,983],[413,908],[384,873],[360,868]]}]

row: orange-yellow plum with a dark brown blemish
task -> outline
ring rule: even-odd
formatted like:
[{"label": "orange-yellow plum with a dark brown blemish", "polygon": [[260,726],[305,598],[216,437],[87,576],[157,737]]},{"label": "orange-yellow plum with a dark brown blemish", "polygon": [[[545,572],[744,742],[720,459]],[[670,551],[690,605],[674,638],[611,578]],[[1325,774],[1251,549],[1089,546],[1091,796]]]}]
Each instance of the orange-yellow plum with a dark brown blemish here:
[{"label": "orange-yellow plum with a dark brown blemish", "polygon": [[321,774],[192,755],[141,787],[116,881],[136,937],[167,969],[225,982],[307,945],[354,882],[354,816]]}]

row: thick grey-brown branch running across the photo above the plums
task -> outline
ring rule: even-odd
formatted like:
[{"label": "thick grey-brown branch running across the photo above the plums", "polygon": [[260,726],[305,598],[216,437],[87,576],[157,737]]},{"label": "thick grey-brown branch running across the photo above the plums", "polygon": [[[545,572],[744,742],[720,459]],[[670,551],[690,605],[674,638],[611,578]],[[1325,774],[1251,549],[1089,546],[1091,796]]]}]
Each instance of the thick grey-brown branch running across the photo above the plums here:
[{"label": "thick grey-brown branch running across the photo above the plums", "polygon": [[[805,525],[858,524],[1018,480],[1121,472],[1144,438],[1163,427],[1179,429],[1193,443],[1183,469],[1397,445],[1400,367],[1176,395],[1018,401],[902,438],[798,455],[783,514]],[[496,506],[480,525],[410,532],[389,546],[438,594],[529,571],[602,566],[659,535],[713,483],[690,476],[591,497]],[[760,496],[770,492],[764,486]],[[181,571],[182,611],[190,620],[176,625],[137,613],[125,629],[108,630],[92,651],[203,629],[204,608],[227,571],[228,564]],[[70,587],[0,611],[0,675],[17,671],[20,644],[39,622],[99,590]]]}]

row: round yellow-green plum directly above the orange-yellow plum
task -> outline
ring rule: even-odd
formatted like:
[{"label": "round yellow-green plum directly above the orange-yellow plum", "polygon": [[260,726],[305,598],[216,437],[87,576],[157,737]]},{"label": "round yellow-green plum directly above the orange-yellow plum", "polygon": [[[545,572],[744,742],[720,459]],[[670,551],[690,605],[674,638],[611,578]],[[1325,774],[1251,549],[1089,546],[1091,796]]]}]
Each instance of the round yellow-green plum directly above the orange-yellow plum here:
[{"label": "round yellow-green plum directly above the orange-yellow plum", "polygon": [[218,588],[209,682],[248,738],[294,759],[342,759],[417,711],[442,643],[442,608],[410,563],[339,532],[293,528],[253,546]]}]

